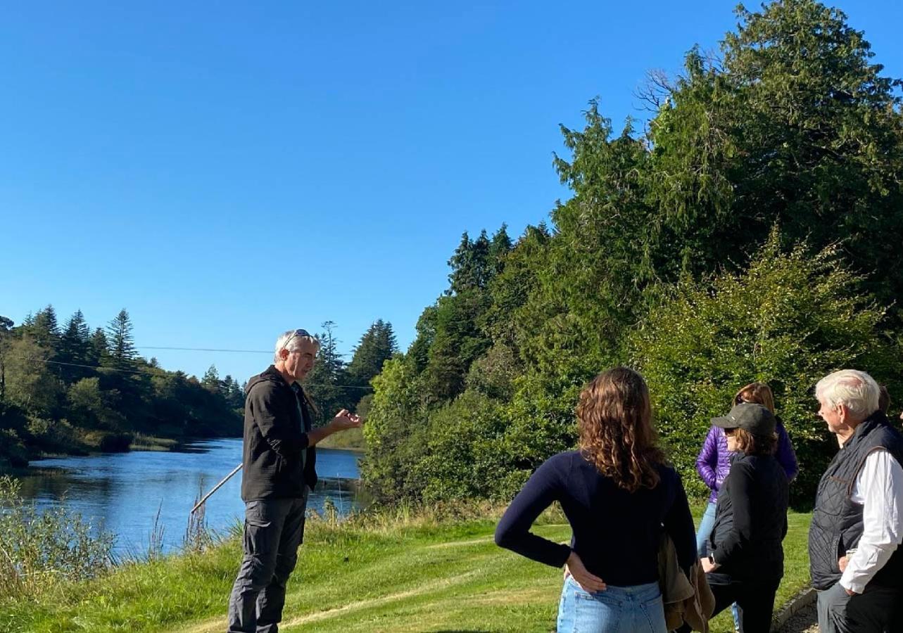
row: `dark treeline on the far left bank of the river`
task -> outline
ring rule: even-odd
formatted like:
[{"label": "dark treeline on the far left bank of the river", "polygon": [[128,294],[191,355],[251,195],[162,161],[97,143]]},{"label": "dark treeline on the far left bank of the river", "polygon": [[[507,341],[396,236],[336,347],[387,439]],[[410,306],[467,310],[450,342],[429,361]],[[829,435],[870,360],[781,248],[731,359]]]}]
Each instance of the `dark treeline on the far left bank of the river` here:
[{"label": "dark treeline on the far left bank of the river", "polygon": [[20,325],[0,317],[0,465],[42,452],[125,451],[140,435],[241,433],[244,393],[211,367],[202,380],[135,351],[122,310],[91,330],[81,311],[62,327],[52,305]]}]

